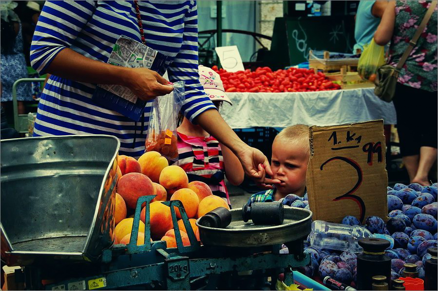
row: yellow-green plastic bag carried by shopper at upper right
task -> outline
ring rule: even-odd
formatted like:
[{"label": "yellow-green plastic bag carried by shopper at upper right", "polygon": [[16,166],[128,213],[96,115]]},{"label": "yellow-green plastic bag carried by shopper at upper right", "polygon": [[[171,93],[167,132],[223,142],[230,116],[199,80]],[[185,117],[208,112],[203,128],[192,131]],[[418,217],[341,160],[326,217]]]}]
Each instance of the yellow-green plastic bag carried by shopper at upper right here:
[{"label": "yellow-green plastic bag carried by shopper at upper right", "polygon": [[358,73],[364,80],[374,83],[376,72],[385,62],[385,47],[377,45],[374,38],[363,46],[363,53],[359,58]]}]

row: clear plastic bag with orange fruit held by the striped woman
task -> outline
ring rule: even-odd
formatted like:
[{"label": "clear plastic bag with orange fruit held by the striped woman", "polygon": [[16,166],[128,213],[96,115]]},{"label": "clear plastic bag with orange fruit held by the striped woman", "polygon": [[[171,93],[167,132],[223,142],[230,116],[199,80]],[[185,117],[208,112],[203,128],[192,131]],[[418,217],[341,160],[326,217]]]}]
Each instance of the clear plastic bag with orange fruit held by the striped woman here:
[{"label": "clear plastic bag with orange fruit held by the striped woman", "polygon": [[170,161],[178,160],[176,122],[184,100],[184,81],[173,83],[170,94],[154,99],[145,152],[157,151]]}]

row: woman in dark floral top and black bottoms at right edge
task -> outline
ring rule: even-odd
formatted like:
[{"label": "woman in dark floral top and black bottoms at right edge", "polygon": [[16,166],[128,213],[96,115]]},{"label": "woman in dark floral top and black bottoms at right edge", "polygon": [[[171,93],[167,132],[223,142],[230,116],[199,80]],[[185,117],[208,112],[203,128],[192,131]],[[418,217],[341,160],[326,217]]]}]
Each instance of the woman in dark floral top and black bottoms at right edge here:
[{"label": "woman in dark floral top and black bottoms at right edge", "polygon": [[[390,1],[374,40],[391,41],[389,64],[396,67],[432,1]],[[437,10],[403,65],[394,96],[400,152],[410,182],[430,185],[437,161]]]}]

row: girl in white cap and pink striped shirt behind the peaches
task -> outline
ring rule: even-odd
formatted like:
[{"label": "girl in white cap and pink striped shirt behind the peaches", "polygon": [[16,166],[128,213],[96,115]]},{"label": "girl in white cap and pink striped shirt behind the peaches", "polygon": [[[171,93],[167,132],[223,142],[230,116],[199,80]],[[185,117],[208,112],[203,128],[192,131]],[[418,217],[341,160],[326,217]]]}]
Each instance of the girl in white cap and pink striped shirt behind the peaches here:
[{"label": "girl in white cap and pink striped shirt behind the peaches", "polygon": [[[199,66],[199,80],[210,100],[219,109],[222,102],[231,101],[225,94],[219,74],[210,68]],[[233,185],[239,185],[244,179],[244,170],[239,159],[225,145],[198,125],[184,117],[178,131],[178,161],[189,176],[189,182],[205,182],[213,195],[219,196],[230,205],[225,177]],[[231,206],[231,205],[230,205]]]}]

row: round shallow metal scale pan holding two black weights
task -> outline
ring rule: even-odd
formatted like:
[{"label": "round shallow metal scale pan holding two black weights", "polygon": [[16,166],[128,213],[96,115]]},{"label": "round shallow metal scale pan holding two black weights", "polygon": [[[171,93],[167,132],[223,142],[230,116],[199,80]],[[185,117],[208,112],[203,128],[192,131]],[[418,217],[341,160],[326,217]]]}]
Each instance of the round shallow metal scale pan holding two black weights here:
[{"label": "round shallow metal scale pan holding two black weights", "polygon": [[282,225],[255,225],[244,222],[242,208],[231,210],[231,223],[226,228],[206,227],[199,224],[201,241],[206,246],[259,247],[303,239],[310,233],[312,212],[307,209],[285,206]]}]

